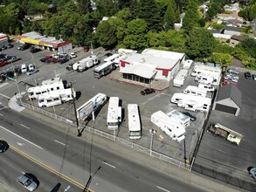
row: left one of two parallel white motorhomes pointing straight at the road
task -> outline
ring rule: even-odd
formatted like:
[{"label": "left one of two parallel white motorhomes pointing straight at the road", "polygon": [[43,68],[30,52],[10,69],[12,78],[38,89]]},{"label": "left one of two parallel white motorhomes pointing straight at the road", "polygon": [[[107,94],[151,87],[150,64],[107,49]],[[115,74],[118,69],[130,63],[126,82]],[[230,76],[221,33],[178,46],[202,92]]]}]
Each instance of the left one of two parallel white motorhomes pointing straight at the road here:
[{"label": "left one of two parallel white motorhomes pointing straight at the road", "polygon": [[110,97],[107,109],[107,128],[109,130],[118,129],[121,124],[121,106],[119,97]]}]

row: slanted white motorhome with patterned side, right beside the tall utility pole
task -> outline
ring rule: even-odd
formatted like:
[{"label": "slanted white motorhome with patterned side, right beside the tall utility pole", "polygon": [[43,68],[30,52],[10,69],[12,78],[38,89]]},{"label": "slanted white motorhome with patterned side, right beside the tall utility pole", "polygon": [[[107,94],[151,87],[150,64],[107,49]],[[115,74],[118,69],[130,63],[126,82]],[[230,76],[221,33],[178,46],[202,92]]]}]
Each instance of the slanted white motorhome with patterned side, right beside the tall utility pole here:
[{"label": "slanted white motorhome with patterned side, right beside the tall utility pole", "polygon": [[[106,102],[106,94],[96,94],[92,99],[87,100],[85,104],[77,108],[76,111],[78,120],[86,120],[93,112],[100,110],[100,108],[104,106]],[[90,104],[92,104],[92,106],[89,106]]]}]

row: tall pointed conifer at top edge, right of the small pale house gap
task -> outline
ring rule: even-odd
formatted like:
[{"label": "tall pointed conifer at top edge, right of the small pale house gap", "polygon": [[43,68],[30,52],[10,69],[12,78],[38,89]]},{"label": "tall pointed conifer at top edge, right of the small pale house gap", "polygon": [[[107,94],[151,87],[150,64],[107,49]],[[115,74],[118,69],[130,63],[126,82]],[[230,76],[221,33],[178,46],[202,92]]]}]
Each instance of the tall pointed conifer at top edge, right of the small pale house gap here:
[{"label": "tall pointed conifer at top edge, right of the small pale house gap", "polygon": [[187,32],[193,27],[197,27],[200,19],[199,11],[197,10],[197,1],[189,0],[185,16],[183,17],[183,29]]}]

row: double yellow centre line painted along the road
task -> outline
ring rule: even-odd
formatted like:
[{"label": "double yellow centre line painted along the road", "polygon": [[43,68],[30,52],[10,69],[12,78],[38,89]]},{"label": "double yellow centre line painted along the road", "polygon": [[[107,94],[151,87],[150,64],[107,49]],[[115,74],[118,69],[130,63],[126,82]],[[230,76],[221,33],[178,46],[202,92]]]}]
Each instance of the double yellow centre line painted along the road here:
[{"label": "double yellow centre line painted along the road", "polygon": [[[59,177],[65,179],[67,182],[73,183],[73,185],[77,186],[78,188],[80,188],[80,189],[85,188],[85,186],[83,184],[81,184],[80,182],[76,182],[73,179],[71,179],[70,177],[59,173],[59,171],[55,170],[54,168],[51,168],[50,166],[46,165],[45,163],[43,163],[41,161],[38,161],[36,158],[33,158],[29,154],[26,154],[23,151],[19,150],[17,147],[14,147],[14,146],[10,145],[10,148],[12,150],[16,151],[17,154],[23,155],[25,158],[33,161],[34,163],[38,164],[42,168],[45,168],[46,170],[50,171],[52,174],[58,175]],[[93,190],[89,189],[89,191],[93,191]]]}]

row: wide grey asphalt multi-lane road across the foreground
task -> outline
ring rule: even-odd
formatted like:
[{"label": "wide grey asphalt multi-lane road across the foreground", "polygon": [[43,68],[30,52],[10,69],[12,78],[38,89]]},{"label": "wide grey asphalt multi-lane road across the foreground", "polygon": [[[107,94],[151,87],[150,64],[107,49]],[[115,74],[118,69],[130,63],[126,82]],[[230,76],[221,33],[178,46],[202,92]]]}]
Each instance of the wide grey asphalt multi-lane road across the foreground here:
[{"label": "wide grey asphalt multi-lane road across the foreground", "polygon": [[123,158],[128,151],[111,153],[97,146],[93,136],[77,138],[73,127],[52,127],[8,108],[1,110],[0,120],[1,138],[10,144],[1,154],[1,181],[15,188],[12,191],[21,191],[13,183],[22,171],[37,176],[38,191],[50,191],[58,182],[61,191],[68,185],[69,191],[82,191],[90,173],[100,166],[90,185],[95,191],[206,190]]}]

